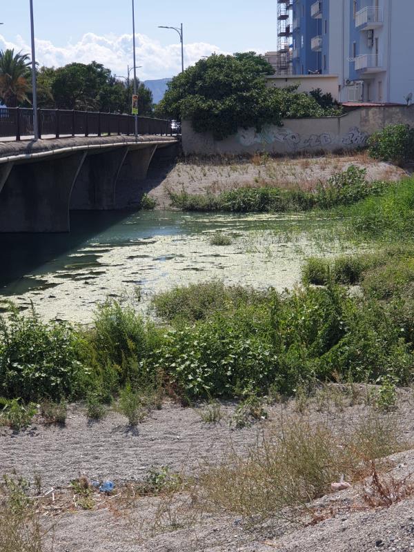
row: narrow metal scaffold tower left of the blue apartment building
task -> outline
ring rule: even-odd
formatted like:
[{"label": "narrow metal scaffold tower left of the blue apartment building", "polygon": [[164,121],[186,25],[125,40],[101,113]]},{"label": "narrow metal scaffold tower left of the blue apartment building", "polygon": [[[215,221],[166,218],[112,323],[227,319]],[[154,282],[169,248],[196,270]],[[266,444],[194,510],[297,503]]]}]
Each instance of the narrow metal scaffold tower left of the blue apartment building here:
[{"label": "narrow metal scaffold tower left of the blue apartment building", "polygon": [[293,0],[277,0],[277,75],[292,75]]}]

